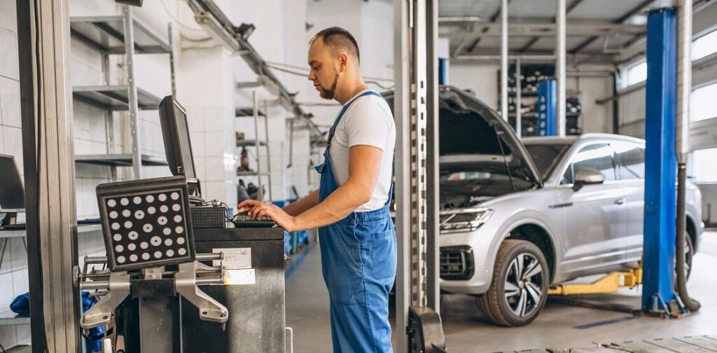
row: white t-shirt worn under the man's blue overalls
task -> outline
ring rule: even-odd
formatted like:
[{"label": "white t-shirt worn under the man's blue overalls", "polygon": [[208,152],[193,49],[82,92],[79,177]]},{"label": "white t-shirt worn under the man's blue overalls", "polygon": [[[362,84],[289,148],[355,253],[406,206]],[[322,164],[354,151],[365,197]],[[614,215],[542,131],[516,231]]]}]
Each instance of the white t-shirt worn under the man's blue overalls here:
[{"label": "white t-shirt worn under the man's blue overalls", "polygon": [[[347,101],[368,90],[362,90]],[[331,140],[331,166],[336,182],[341,185],[348,180],[348,149],[356,145],[378,147],[384,151],[379,168],[379,179],[371,200],[359,206],[356,212],[367,212],[384,207],[391,188],[394,147],[396,146],[396,124],[389,104],[377,95],[364,95],[356,99],[343,113]]]}]

